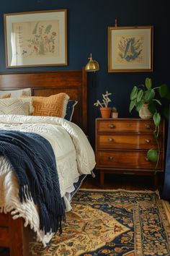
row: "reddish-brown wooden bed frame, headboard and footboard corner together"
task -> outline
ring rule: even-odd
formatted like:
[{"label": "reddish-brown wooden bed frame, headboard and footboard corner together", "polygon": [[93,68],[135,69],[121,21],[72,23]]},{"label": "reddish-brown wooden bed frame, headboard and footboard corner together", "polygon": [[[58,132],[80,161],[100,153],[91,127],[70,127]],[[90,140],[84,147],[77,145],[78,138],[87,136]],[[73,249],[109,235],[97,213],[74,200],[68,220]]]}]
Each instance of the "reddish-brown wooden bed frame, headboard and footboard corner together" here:
[{"label": "reddish-brown wooden bed frame, headboard and footboard corner together", "polygon": [[[66,92],[71,100],[78,101],[73,122],[86,133],[87,124],[87,79],[84,69],[49,72],[0,73],[0,90],[32,88],[32,95],[48,96]],[[1,121],[1,117],[0,117]],[[24,220],[13,220],[10,213],[0,214],[0,247],[9,247],[11,256],[30,256],[29,228]]]}]

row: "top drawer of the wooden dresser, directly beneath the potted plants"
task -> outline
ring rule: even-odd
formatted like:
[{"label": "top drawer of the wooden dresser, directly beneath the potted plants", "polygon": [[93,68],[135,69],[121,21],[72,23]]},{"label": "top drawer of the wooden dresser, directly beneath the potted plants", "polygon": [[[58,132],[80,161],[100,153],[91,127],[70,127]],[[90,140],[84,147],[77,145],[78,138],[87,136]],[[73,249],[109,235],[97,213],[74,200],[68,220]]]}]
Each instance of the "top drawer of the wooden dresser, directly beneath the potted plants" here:
[{"label": "top drawer of the wooden dresser, directly beneath the potted plants", "polygon": [[[97,122],[97,132],[145,132],[153,133],[153,120],[148,119],[100,119]],[[162,132],[162,125],[160,132]]]}]

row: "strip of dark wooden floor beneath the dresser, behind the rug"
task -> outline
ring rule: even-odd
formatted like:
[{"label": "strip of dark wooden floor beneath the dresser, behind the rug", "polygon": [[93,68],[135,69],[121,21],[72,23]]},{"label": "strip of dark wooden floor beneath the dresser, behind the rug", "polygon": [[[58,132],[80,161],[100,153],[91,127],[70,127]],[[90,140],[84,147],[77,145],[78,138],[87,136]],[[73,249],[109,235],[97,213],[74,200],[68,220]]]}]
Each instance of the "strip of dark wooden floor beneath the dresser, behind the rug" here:
[{"label": "strip of dark wooden floor beneath the dresser, behind the rug", "polygon": [[[86,189],[101,189],[99,186],[99,171],[94,171],[96,175],[93,178],[91,175],[86,176],[81,188]],[[163,183],[163,176],[158,174],[159,189]],[[152,176],[135,176],[125,174],[104,174],[104,187],[102,189],[127,189],[127,190],[156,190],[154,187]]]}]

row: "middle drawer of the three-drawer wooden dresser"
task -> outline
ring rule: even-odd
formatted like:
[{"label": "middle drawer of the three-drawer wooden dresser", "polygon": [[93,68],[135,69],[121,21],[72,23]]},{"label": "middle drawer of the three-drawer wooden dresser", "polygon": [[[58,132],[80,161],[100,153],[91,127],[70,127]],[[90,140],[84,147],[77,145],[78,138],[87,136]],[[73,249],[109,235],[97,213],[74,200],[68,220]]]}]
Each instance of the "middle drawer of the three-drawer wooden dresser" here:
[{"label": "middle drawer of the three-drawer wooden dresser", "polygon": [[[159,142],[162,147],[161,140]],[[122,149],[150,149],[157,148],[153,135],[132,135],[132,134],[99,134],[97,137],[98,148],[122,148]]]}]

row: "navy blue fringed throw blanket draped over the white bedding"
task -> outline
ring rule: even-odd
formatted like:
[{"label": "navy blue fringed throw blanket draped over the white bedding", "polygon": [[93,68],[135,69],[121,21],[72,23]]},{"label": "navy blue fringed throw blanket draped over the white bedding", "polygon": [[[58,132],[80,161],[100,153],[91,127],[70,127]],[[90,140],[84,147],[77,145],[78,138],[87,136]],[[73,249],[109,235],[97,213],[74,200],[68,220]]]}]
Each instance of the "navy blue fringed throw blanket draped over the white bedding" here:
[{"label": "navy blue fringed throw blanket draped over the white bedding", "polygon": [[50,142],[35,133],[0,130],[0,154],[17,175],[21,202],[32,197],[38,206],[40,229],[61,233],[65,204]]}]

